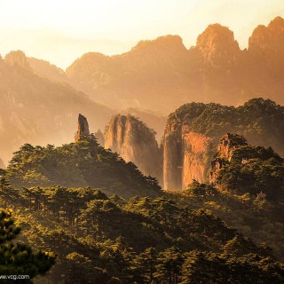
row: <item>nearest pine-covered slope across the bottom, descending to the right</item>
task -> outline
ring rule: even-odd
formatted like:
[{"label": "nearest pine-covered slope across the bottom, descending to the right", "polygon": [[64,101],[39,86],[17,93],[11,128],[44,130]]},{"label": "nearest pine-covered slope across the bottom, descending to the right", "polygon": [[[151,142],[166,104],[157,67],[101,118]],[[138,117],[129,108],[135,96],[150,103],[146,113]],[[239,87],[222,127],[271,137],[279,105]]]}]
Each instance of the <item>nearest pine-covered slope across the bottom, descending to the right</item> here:
[{"label": "nearest pine-covered slope across the bottom, descending to the right", "polygon": [[207,209],[178,205],[167,196],[125,201],[59,186],[6,186],[1,195],[15,210],[23,240],[57,254],[51,272],[35,283],[283,281],[283,264],[270,248],[257,246]]}]

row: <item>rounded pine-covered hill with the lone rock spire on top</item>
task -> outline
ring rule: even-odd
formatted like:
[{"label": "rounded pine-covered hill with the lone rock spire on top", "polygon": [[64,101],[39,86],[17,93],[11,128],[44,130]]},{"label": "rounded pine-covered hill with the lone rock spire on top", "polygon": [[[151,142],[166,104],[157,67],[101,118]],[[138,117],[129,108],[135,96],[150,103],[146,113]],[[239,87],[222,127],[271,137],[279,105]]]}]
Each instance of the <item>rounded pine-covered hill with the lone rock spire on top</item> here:
[{"label": "rounded pine-covered hill with the lone rock spire on top", "polygon": [[22,186],[91,186],[106,193],[156,196],[161,187],[154,177],[145,177],[132,162],[99,146],[91,136],[59,147],[20,147],[6,170],[15,188]]}]

